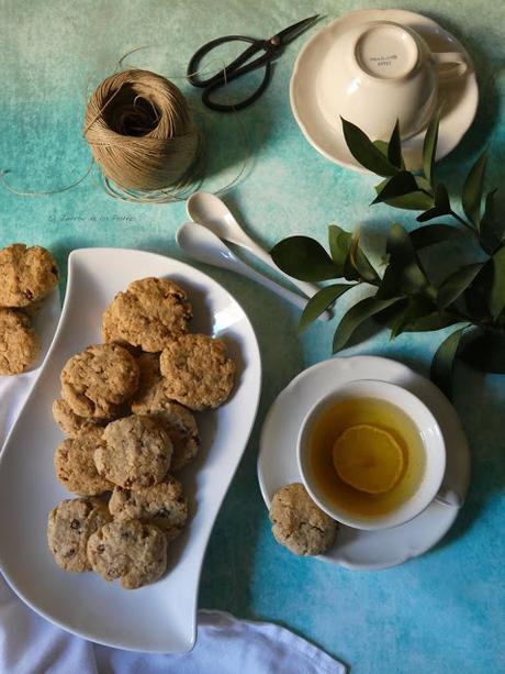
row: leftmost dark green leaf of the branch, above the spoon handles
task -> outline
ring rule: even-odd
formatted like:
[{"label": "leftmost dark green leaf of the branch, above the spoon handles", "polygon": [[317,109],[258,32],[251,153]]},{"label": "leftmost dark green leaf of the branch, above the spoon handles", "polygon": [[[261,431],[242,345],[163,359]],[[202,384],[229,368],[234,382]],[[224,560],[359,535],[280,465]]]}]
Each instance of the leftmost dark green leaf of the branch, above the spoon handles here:
[{"label": "leftmost dark green leaf of the branch, above the spoon handles", "polygon": [[270,251],[277,266],[300,280],[327,280],[340,275],[324,247],[308,236],[289,236]]}]

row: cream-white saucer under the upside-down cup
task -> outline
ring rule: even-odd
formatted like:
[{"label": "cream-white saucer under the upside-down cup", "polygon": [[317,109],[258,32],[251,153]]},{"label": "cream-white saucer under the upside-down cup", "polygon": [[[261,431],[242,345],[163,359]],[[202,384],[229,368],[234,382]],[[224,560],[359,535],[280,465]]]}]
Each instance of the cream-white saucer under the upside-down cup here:
[{"label": "cream-white saucer under the upside-down cup", "polygon": [[[368,173],[347,148],[339,111],[322,109],[317,77],[328,52],[339,36],[356,24],[368,21],[403,23],[417,31],[434,52],[461,52],[465,55],[469,64],[467,74],[457,80],[440,84],[439,99],[444,108],[437,159],[441,159],[458,145],[475,117],[479,103],[475,70],[470,56],[456,37],[431,19],[405,10],[374,9],[351,12],[332,21],[305,44],[296,58],[290,82],[291,109],[300,129],[311,145],[326,158],[340,166]],[[422,166],[423,140],[424,131],[402,144],[405,164],[409,169]]]}]

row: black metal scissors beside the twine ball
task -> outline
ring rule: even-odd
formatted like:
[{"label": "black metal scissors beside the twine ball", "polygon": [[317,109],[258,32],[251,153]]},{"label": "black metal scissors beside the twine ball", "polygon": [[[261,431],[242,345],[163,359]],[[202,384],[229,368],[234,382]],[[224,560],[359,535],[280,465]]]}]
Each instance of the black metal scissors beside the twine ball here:
[{"label": "black metal scissors beside the twine ball", "polygon": [[[191,57],[191,60],[188,64],[188,79],[194,87],[203,88],[202,100],[205,106],[212,110],[232,112],[234,110],[246,108],[247,106],[254,103],[267,88],[272,75],[272,62],[282,54],[285,45],[306,31],[318,20],[318,18],[319,14],[316,14],[315,16],[310,16],[303,21],[299,21],[280,33],[277,33],[270,37],[270,40],[257,40],[245,35],[226,35],[224,37],[217,37],[217,40],[212,40],[200,47],[200,49],[198,49]],[[198,69],[202,58],[218,45],[235,41],[250,42],[250,47],[247,47],[247,49],[237,56],[235,60],[225,66],[213,77],[200,79],[198,77]],[[265,54],[258,56],[250,63],[247,63],[258,52],[265,52]],[[256,89],[256,91],[245,100],[237,103],[224,104],[211,99],[211,95],[216,89],[221,89],[237,77],[240,77],[246,73],[250,73],[251,70],[256,70],[257,68],[261,68],[262,66],[265,66],[265,76],[261,84],[259,85],[258,89]]]}]

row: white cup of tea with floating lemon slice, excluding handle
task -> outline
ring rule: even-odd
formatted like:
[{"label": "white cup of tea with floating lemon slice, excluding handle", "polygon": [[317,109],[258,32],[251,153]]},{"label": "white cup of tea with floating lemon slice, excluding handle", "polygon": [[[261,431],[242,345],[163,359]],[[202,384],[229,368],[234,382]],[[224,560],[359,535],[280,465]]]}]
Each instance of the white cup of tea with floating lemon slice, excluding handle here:
[{"label": "white cup of tea with floating lemon slice, excluding handle", "polygon": [[337,388],[306,415],[298,440],[313,500],[357,529],[385,529],[422,512],[446,467],[440,428],[412,393],[386,382]]}]

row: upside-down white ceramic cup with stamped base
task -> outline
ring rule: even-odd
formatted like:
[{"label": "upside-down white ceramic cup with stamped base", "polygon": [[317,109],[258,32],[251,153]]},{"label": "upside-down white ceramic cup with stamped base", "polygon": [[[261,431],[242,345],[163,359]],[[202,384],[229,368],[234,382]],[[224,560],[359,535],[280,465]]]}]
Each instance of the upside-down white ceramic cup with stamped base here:
[{"label": "upside-down white ceramic cup with stamped base", "polygon": [[434,53],[412,27],[372,21],[328,48],[317,79],[318,103],[328,121],[340,124],[341,117],[372,140],[388,141],[400,120],[407,139],[435,113],[439,82],[467,69],[463,54]]}]

